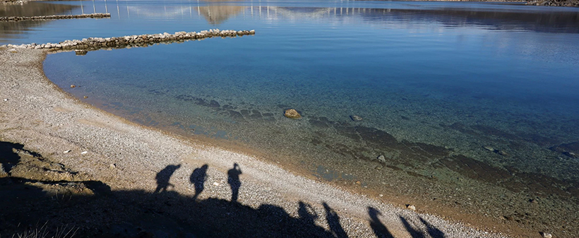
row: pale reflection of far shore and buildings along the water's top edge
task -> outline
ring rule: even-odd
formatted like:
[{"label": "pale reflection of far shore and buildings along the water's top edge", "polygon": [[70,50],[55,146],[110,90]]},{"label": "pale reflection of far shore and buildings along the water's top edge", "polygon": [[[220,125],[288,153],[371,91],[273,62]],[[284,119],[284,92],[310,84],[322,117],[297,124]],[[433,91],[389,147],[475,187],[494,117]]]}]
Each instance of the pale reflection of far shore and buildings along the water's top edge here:
[{"label": "pale reflection of far shore and buildings along the water's top edge", "polygon": [[[361,18],[364,23],[397,27],[414,28],[416,23],[440,23],[450,28],[475,25],[489,30],[579,33],[579,11],[574,11],[575,9],[535,11],[536,9],[527,10],[517,8],[518,6],[511,6],[511,8],[429,6],[424,8],[418,5],[412,6],[412,4],[374,4],[366,8],[272,6],[268,3],[257,5],[251,3],[248,6],[246,2],[232,5],[232,2],[228,1],[225,4],[222,0],[194,4],[164,4],[162,7],[155,4],[135,5],[118,1],[115,4],[117,4],[118,18],[186,19],[203,16],[211,25],[220,25],[230,18],[241,15],[244,20],[328,19],[347,23],[352,19]],[[123,8],[126,9],[126,13],[122,12]]]}]

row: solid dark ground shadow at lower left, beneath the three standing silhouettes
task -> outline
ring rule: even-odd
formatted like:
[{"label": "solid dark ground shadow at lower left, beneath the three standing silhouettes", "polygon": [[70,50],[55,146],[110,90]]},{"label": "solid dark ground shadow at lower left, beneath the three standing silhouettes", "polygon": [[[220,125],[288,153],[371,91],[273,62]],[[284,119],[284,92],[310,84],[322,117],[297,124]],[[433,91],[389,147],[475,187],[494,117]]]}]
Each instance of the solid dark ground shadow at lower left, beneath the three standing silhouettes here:
[{"label": "solid dark ground shadow at lower left, beneath the three standing silhouettes", "polygon": [[[50,182],[0,178],[1,237],[12,237],[37,224],[79,228],[75,237],[344,237],[316,225],[316,216],[293,217],[284,208],[263,203],[257,208],[229,199],[192,196],[176,191],[151,194],[143,190],[107,191],[100,182],[52,182],[54,188],[82,186],[94,193],[69,194],[66,199],[37,184]],[[16,191],[16,192],[11,192]],[[71,191],[78,191],[73,189]],[[22,204],[26,206],[14,206]],[[8,206],[12,204],[13,206]],[[304,208],[309,205],[304,204]],[[299,206],[296,204],[296,206]],[[307,209],[307,208],[306,208]],[[332,211],[332,208],[327,208]],[[302,213],[304,214],[304,213]],[[79,219],[82,218],[82,219]],[[330,221],[338,221],[330,212]],[[341,228],[340,228],[341,229]],[[335,235],[340,234],[340,236]]]}]

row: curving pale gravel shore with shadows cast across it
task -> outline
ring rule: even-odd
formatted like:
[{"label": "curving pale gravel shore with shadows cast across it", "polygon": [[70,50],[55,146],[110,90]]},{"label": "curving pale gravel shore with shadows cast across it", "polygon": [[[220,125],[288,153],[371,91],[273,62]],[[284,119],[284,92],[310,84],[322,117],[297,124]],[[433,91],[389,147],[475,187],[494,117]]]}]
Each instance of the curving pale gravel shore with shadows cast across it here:
[{"label": "curving pale gravel shore with shadows cast across it", "polygon": [[[237,237],[256,234],[265,237],[376,237],[377,234],[378,237],[505,237],[384,204],[374,198],[292,174],[262,162],[258,157],[210,147],[198,141],[186,141],[102,112],[51,83],[42,72],[44,56],[42,50],[0,47],[0,141],[10,145],[17,158],[10,165],[12,173],[6,171],[8,162],[4,163],[0,179],[15,177],[20,171],[16,169],[18,160],[23,163],[27,156],[30,160],[48,161],[51,165],[61,165],[62,171],[71,174],[65,180],[82,181],[87,189],[93,190],[84,194],[69,193],[71,197],[99,196],[89,182],[106,184],[110,190],[102,198],[90,198],[93,199],[90,203],[81,200],[82,203],[68,204],[66,208],[90,210],[89,204],[105,204],[103,206],[120,206],[111,207],[112,211],[106,213],[122,210],[123,215],[135,213],[142,218],[129,224],[121,216],[85,215],[75,218],[71,215],[69,224],[81,228],[81,234],[131,236],[130,232],[115,233],[122,223],[121,228],[125,231],[127,227],[140,227],[138,229],[149,229],[151,232],[147,234],[152,237],[162,236],[153,232],[155,228],[151,227],[155,225],[165,227],[165,230],[158,228],[157,231],[163,230],[167,237],[178,236],[178,232],[169,230],[188,229],[195,237],[228,237],[232,234]],[[234,163],[240,170],[232,169]],[[195,196],[200,184],[196,187],[199,180],[192,173],[195,175],[194,169],[203,165],[208,165],[206,180],[201,182],[203,191]],[[47,183],[42,185],[42,181],[51,180],[58,181],[52,182],[52,187],[65,186],[61,177],[55,179],[46,172],[53,170],[44,169],[45,172],[37,177],[26,177],[27,173],[22,172],[18,181],[27,181],[26,186],[44,186]],[[14,186],[14,182],[0,182],[0,189],[8,186],[6,184]],[[231,187],[239,189],[237,202],[231,201]],[[42,191],[54,196],[50,189]],[[8,199],[6,196],[10,195],[6,194],[1,198]],[[150,205],[153,201],[156,201],[154,206]],[[14,200],[11,204],[20,203],[24,202]],[[28,201],[28,206],[33,208],[34,204]],[[209,209],[208,206],[219,206],[223,210],[205,210]],[[99,211],[92,210],[92,214],[100,214],[104,209],[95,207]],[[139,209],[144,207],[150,209],[141,213]],[[58,208],[60,210],[55,208],[54,213],[64,209]],[[420,210],[419,204],[416,208]],[[83,214],[80,210],[78,214]],[[205,216],[203,224],[198,223],[201,215]],[[0,222],[12,222],[14,226],[16,222],[32,222],[10,220],[6,216],[0,212]],[[46,221],[42,219],[44,217],[37,218],[36,222]],[[54,214],[46,219],[51,222],[59,220],[54,218]],[[155,222],[155,225],[147,225],[143,220]],[[159,220],[173,222],[172,225],[159,225]],[[55,224],[65,223],[60,222]],[[263,227],[249,228],[256,224]],[[91,227],[96,228],[90,230]],[[252,233],[252,229],[260,231]],[[11,237],[11,234],[4,235]]]}]

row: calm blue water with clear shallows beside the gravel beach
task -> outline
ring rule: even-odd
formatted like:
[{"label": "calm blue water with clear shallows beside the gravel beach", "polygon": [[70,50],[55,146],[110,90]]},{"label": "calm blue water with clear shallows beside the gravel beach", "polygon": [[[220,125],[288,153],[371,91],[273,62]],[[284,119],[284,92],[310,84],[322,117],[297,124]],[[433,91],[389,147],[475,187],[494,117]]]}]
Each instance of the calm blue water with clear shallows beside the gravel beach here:
[{"label": "calm blue water with clear shallows beside the gravel beach", "polygon": [[[492,193],[512,193],[519,205],[528,197],[552,199],[544,211],[567,209],[559,201],[579,197],[578,8],[390,1],[57,6],[51,13],[112,17],[0,23],[0,42],[256,30],[47,56],[44,71],[54,83],[138,123],[248,145],[270,160],[334,182],[362,181],[373,191],[405,181],[412,186],[396,193],[444,197],[444,189],[426,191],[443,184],[463,189],[455,196],[469,201]],[[288,108],[304,118],[286,119]],[[485,186],[491,195],[477,194]]]}]

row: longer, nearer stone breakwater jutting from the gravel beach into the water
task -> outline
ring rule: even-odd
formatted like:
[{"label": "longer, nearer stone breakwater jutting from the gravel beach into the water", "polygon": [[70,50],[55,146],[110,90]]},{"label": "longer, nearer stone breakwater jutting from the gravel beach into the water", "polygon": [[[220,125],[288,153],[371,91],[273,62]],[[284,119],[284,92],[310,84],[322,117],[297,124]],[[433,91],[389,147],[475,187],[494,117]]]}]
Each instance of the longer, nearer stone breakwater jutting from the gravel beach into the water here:
[{"label": "longer, nearer stone breakwater jutting from the gravel beach into the water", "polygon": [[202,30],[201,32],[167,32],[153,35],[127,35],[124,37],[91,37],[83,40],[65,40],[64,42],[45,44],[5,44],[0,47],[25,48],[25,49],[49,49],[52,51],[75,50],[76,54],[86,54],[90,50],[101,48],[126,48],[148,47],[149,45],[164,42],[184,42],[187,40],[202,40],[209,37],[237,37],[243,35],[255,35],[255,30]]}]

